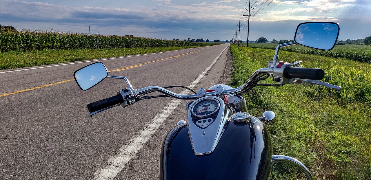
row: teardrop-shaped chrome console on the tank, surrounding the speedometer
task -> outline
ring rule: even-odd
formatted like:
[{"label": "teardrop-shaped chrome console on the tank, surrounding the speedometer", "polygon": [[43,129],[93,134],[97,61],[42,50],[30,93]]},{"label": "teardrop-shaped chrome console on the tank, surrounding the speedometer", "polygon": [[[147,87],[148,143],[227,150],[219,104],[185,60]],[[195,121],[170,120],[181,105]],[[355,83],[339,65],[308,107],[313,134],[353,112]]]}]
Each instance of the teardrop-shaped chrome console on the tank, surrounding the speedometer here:
[{"label": "teardrop-shaped chrome console on the tank, surrounding the speedometer", "polygon": [[[192,119],[192,109],[195,104],[206,99],[213,99],[219,102],[219,112],[216,114],[215,120],[205,129],[194,124]],[[203,155],[212,153],[217,146],[221,135],[224,132],[226,123],[229,120],[230,110],[225,106],[222,99],[215,96],[207,96],[194,101],[188,109],[188,134],[191,141],[192,149],[194,154]]]}]

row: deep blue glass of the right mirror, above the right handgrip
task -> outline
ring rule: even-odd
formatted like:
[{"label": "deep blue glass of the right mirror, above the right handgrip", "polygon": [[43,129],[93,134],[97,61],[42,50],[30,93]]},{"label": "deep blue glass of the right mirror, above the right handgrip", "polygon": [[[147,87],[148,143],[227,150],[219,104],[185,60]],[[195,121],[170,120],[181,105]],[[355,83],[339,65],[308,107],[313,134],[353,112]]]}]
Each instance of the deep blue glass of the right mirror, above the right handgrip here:
[{"label": "deep blue glass of the right mirror, above the right handgrip", "polygon": [[331,50],[338,35],[339,25],[336,23],[301,23],[296,29],[295,42],[315,49]]}]

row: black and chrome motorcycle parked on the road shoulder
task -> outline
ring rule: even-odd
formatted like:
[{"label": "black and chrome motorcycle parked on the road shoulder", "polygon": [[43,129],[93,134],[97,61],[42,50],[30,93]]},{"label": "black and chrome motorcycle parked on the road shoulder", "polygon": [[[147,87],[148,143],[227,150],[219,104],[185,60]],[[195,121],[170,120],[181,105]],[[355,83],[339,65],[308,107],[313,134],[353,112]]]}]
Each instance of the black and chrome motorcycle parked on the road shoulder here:
[{"label": "black and chrome motorcycle parked on the road shoulder", "polygon": [[[296,29],[295,41],[280,44],[272,61],[266,68],[256,70],[240,87],[232,88],[216,84],[209,89],[200,88],[194,94],[177,94],[168,90],[171,87],[148,86],[134,89],[126,77],[109,76],[103,63],[85,66],[74,73],[75,80],[82,90],[88,90],[106,77],[124,79],[126,89],[117,95],[88,104],[89,116],[121,105],[131,106],[140,100],[172,97],[191,100],[185,105],[188,121],[178,122],[164,139],[160,158],[161,180],[182,179],[246,179],[266,180],[273,161],[283,161],[298,167],[307,180],[313,177],[298,160],[281,155],[273,155],[267,125],[276,121],[273,111],[265,111],[262,116],[252,116],[246,107],[243,93],[256,86],[283,86],[285,84],[314,84],[341,90],[320,81],[324,70],[304,68],[295,61],[287,63],[278,60],[281,47],[301,44],[320,50],[334,48],[339,35],[339,25],[329,22],[301,23]],[[92,80],[91,77],[95,77]],[[273,79],[273,84],[259,81]],[[147,96],[160,92],[161,95]]]}]

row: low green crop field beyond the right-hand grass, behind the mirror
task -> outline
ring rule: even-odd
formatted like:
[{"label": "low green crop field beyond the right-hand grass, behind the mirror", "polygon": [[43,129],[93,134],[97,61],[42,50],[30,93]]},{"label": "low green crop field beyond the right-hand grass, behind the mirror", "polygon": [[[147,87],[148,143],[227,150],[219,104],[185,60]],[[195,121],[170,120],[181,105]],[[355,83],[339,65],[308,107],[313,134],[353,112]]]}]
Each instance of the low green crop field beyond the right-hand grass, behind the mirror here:
[{"label": "low green crop field beyond the right-hand grass, behind the mirror", "polygon": [[[246,46],[246,43],[244,43],[244,46]],[[249,43],[249,46],[263,49],[276,49],[278,44]],[[293,45],[283,47],[280,50],[326,57],[345,58],[362,63],[371,63],[371,46],[366,45],[336,45],[334,49],[330,51],[315,50],[301,45]]]}]

